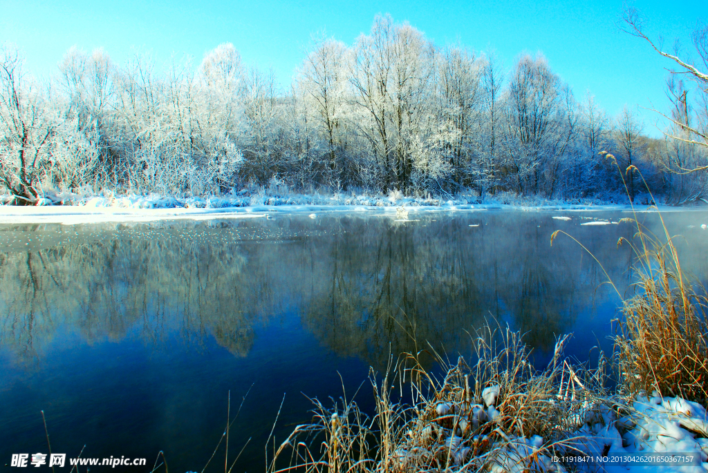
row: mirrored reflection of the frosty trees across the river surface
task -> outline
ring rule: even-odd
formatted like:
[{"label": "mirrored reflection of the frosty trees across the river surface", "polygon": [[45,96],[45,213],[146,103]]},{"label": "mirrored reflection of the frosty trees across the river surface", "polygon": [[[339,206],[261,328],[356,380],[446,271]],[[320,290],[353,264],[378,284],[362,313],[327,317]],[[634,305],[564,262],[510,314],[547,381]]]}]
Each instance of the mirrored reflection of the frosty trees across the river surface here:
[{"label": "mirrored reflection of the frosty trees across the river surface", "polygon": [[[488,212],[408,223],[347,215],[87,226],[85,238],[64,245],[0,252],[0,344],[26,362],[42,356],[57,327],[89,342],[135,333],[148,344],[176,331],[193,349],[210,336],[247,356],[256,327],[290,307],[336,354],[375,366],[426,341],[460,349],[485,317],[546,350],[603,282],[579,247],[549,245],[559,224],[548,214]],[[632,228],[573,228],[627,280],[630,250],[611,242]],[[6,230],[35,240],[59,231]]]}]

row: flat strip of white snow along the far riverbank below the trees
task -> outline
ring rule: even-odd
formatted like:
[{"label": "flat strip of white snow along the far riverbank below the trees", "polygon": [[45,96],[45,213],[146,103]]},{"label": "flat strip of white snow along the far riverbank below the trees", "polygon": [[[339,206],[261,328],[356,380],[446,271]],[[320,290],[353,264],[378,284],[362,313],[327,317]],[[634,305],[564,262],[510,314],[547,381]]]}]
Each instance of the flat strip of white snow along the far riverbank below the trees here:
[{"label": "flat strip of white snow along the far riverbank below the trees", "polygon": [[[100,223],[121,221],[159,221],[175,219],[249,218],[267,214],[316,214],[321,212],[376,212],[395,214],[401,206],[411,213],[429,211],[545,210],[545,211],[629,211],[627,204],[585,201],[564,202],[538,197],[502,195],[479,203],[472,197],[433,199],[345,194],[288,194],[287,196],[189,197],[176,199],[158,194],[40,199],[35,206],[0,205],[0,223]],[[9,198],[4,199],[9,202]],[[62,204],[63,203],[63,204]],[[637,211],[653,211],[646,204]],[[663,206],[661,211],[685,211],[687,207]],[[697,206],[695,209],[704,209]]]}]

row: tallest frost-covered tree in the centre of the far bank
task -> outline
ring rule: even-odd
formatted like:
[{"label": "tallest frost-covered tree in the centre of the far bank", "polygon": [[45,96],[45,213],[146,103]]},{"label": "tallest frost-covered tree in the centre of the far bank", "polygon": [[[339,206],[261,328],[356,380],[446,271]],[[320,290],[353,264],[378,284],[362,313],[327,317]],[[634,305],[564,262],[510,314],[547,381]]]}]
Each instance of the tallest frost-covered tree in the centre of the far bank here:
[{"label": "tallest frost-covered tree in the centre of the far bank", "polygon": [[[361,119],[356,129],[369,142],[382,189],[406,191],[416,155],[425,142],[434,49],[423,34],[390,16],[377,16],[370,35],[353,48],[350,83]],[[419,154],[423,161],[424,156]]]}]

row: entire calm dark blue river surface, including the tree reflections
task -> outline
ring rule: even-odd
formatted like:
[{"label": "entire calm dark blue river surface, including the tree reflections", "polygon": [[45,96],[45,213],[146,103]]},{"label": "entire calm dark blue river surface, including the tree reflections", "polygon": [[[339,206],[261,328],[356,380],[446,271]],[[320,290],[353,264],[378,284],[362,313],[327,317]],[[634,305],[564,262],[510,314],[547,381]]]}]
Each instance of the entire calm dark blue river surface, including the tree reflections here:
[{"label": "entire calm dark blue river surface, including the tree reflections", "polygon": [[[413,216],[415,214],[411,214]],[[571,216],[561,221],[553,216]],[[307,397],[338,397],[389,354],[428,341],[469,353],[466,331],[496,317],[539,359],[554,335],[568,354],[610,349],[619,291],[630,291],[622,212],[322,213],[207,222],[0,225],[0,464],[12,453],[147,457],[201,471],[232,412],[251,437],[234,471],[263,471],[280,401],[279,444],[311,418]],[[641,219],[654,229],[656,215]],[[708,279],[708,213],[665,216],[685,269]],[[629,292],[627,292],[629,293]],[[340,378],[341,375],[341,378]],[[372,410],[366,383],[357,399]],[[223,468],[223,453],[207,471]],[[46,468],[46,467],[45,467]],[[10,470],[10,467],[4,467]],[[101,470],[100,467],[94,468]],[[122,470],[126,470],[124,467]],[[142,469],[144,470],[144,469]],[[63,471],[68,471],[63,470]]]}]

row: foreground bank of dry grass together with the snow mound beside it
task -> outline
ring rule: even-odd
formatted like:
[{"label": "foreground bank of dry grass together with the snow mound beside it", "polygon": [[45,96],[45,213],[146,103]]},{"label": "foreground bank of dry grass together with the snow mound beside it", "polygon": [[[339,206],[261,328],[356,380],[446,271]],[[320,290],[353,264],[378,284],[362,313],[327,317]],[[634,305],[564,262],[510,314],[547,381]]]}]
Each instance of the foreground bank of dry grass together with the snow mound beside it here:
[{"label": "foreground bank of dry grass together with the snow mound beside it", "polygon": [[[373,418],[350,400],[326,408],[315,399],[313,423],[295,428],[275,456],[292,455],[290,467],[308,472],[708,472],[701,404],[610,395],[607,359],[600,354],[597,370],[573,366],[562,354],[569,337],[558,339],[547,368],[535,370],[522,339],[485,326],[472,336],[474,362],[438,358],[439,377],[417,354],[392,359],[387,373],[370,374]],[[402,382],[412,404],[401,402]],[[653,454],[692,462],[647,466],[641,455]]]}]

